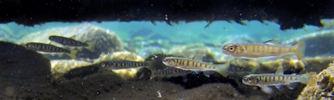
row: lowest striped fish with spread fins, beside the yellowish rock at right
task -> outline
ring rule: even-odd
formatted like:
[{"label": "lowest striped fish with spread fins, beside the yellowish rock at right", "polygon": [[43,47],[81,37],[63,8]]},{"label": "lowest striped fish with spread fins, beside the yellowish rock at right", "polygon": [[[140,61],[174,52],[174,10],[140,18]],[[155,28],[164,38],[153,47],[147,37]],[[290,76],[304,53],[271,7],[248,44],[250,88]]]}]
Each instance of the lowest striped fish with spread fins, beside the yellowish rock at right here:
[{"label": "lowest striped fish with spread fins, beside the yellowish rock at right", "polygon": [[257,85],[263,92],[271,94],[272,90],[268,87],[269,85],[275,85],[278,90],[282,90],[281,87],[283,85],[287,85],[289,89],[293,90],[298,82],[314,86],[316,85],[316,76],[317,74],[315,72],[301,75],[283,74],[283,67],[280,66],[275,74],[249,74],[244,76],[242,78],[242,83],[246,85]]}]

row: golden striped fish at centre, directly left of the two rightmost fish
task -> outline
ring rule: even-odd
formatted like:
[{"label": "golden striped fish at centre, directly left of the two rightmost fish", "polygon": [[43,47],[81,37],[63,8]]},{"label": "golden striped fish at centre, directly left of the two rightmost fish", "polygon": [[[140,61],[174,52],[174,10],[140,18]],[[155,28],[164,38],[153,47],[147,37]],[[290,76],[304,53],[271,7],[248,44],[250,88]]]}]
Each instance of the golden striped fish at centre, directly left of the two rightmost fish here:
[{"label": "golden striped fish at centre, directly left of the two rightmost fish", "polygon": [[[195,57],[194,57],[195,58]],[[215,71],[222,76],[228,76],[228,65],[214,65],[212,63],[205,63],[200,60],[194,60],[194,58],[178,58],[178,57],[166,57],[162,62],[169,67],[176,67],[184,70],[193,70],[195,72],[202,71],[205,76],[209,77],[212,72]],[[228,63],[227,63],[228,64]]]}]

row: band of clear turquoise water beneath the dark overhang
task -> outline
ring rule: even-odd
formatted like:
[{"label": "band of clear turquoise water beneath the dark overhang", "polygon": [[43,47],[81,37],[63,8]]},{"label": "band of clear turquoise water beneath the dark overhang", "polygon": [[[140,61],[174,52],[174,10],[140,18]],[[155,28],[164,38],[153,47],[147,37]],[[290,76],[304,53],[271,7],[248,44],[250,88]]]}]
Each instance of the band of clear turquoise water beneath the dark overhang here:
[{"label": "band of clear turquoise water beneath the dark overhang", "polygon": [[[244,21],[246,25],[237,24],[235,22],[229,23],[225,21],[216,21],[212,22],[212,24],[210,24],[207,28],[205,28],[207,22],[179,22],[179,24],[173,23],[173,26],[166,24],[166,22],[156,22],[156,25],[152,24],[152,22],[84,23],[95,24],[109,29],[110,31],[114,31],[122,40],[132,40],[132,35],[145,37],[145,35],[148,35],[149,33],[157,33],[160,36],[158,38],[151,38],[151,40],[164,38],[184,43],[209,42],[213,44],[219,43],[225,40],[225,38],[233,35],[245,35],[249,38],[255,39],[256,42],[264,42],[273,38],[288,40],[290,38],[296,38],[299,35],[312,33],[317,30],[317,27],[315,26],[305,26],[304,28],[297,30],[289,29],[282,31],[279,29],[280,26],[278,24],[267,21],[264,22],[264,24],[258,21]],[[9,24],[0,24],[0,26],[10,28],[10,31],[15,33],[15,35],[26,35],[36,31],[43,31],[48,28],[74,26],[77,24],[80,23],[49,22],[31,27],[17,25],[12,22]],[[180,37],[182,37],[182,40],[179,39]]]}]

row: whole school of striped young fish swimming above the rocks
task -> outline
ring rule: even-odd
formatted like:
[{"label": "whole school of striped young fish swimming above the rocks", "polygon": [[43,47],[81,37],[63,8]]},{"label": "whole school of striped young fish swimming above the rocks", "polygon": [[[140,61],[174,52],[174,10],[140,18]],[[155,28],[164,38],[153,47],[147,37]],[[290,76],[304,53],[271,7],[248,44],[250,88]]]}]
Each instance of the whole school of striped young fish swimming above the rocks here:
[{"label": "whole school of striped young fish swimming above the rocks", "polygon": [[[62,36],[51,35],[49,40],[62,44],[70,49],[56,47],[51,44],[44,44],[38,42],[29,42],[25,44],[27,49],[42,51],[47,53],[58,53],[58,56],[63,56],[66,53],[71,58],[76,58],[77,50],[82,51],[82,48],[86,48],[89,51],[94,51],[93,42],[79,42],[75,39],[75,35],[71,38],[65,38]],[[298,60],[303,59],[305,51],[305,42],[298,42],[294,46],[287,46],[280,44],[277,40],[269,40],[263,43],[231,43],[225,44],[222,47],[222,53],[232,56],[234,58],[246,58],[246,59],[264,59],[264,58],[283,58],[290,60],[292,57],[296,57]],[[129,69],[146,67],[151,70],[151,79],[157,76],[186,76],[186,74],[199,74],[202,72],[205,76],[209,77],[210,74],[218,73],[221,76],[227,77],[235,73],[248,74],[242,78],[242,83],[246,85],[257,85],[262,91],[271,94],[272,89],[269,85],[274,85],[278,90],[281,90],[283,85],[287,85],[289,89],[294,89],[296,83],[305,83],[306,85],[315,85],[315,72],[307,74],[283,74],[283,67],[278,67],[275,74],[254,74],[256,68],[254,67],[241,67],[231,65],[230,63],[214,64],[206,63],[202,61],[202,56],[194,56],[193,58],[180,58],[180,57],[165,57],[161,62],[167,66],[166,69],[154,69],[155,65],[152,61],[130,61],[130,60],[109,60],[98,63],[98,67],[106,70],[115,69]]]}]

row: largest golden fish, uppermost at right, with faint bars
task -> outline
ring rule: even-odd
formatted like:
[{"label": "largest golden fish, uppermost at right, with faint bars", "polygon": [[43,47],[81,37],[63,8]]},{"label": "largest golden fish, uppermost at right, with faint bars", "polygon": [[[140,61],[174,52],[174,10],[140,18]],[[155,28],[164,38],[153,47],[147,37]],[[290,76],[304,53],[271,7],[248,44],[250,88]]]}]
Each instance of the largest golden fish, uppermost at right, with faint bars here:
[{"label": "largest golden fish, uppermost at right, with faint bars", "polygon": [[304,57],[305,42],[298,42],[294,46],[285,46],[276,40],[264,43],[231,43],[225,44],[223,53],[239,58],[284,58],[289,60],[296,56],[298,60]]}]

